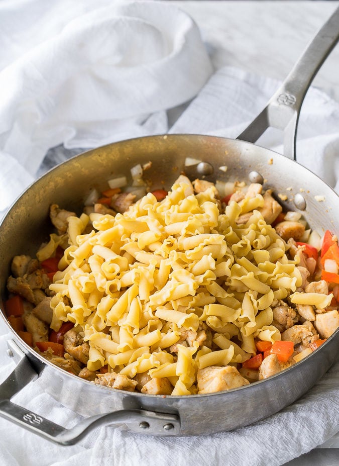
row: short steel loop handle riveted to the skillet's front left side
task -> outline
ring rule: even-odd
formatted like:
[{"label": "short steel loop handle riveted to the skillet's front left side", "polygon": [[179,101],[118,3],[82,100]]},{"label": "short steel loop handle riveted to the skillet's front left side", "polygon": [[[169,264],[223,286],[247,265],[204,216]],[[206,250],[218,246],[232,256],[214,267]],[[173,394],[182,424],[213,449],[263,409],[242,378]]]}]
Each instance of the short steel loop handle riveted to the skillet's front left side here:
[{"label": "short steel loop handle riveted to the skillet's front left side", "polygon": [[114,411],[91,416],[71,429],[66,429],[30,410],[11,402],[11,398],[37,378],[25,353],[14,340],[8,341],[9,354],[17,365],[0,385],[0,416],[41,437],[60,445],[73,445],[91,430],[104,425],[127,425],[129,430],[152,435],[177,435],[180,420],[175,414],[155,413],[142,409]]}]

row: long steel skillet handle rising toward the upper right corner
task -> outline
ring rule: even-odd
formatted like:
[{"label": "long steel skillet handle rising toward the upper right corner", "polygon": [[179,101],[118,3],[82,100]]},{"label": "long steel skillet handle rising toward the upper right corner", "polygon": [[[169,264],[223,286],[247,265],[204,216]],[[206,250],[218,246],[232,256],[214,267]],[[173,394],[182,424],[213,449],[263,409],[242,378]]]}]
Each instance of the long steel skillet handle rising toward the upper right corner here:
[{"label": "long steel skillet handle rising toward the upper right corner", "polygon": [[264,110],[237,139],[256,142],[267,128],[284,130],[284,155],[296,160],[301,105],[313,78],[339,39],[339,8],[319,29]]}]

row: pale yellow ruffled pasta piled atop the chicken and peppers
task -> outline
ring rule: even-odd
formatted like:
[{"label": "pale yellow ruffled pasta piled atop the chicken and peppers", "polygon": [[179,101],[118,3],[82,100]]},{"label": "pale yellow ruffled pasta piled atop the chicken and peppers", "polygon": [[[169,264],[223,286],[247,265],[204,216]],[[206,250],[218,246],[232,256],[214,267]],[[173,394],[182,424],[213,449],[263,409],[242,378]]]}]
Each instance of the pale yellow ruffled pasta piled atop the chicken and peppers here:
[{"label": "pale yellow ruffled pasta piled atop the chicken and peppers", "polygon": [[[176,183],[163,201],[149,193],[116,216],[68,218],[70,245],[50,285],[51,328],[66,321],[81,327],[89,370],[107,364],[129,378],[148,371],[168,378],[172,395],[190,395],[198,369],[246,361],[256,354],[255,338],[281,339],[272,325],[274,300],[329,304],[331,295],[296,292],[297,263],[256,210],[260,194],[220,214],[215,190],[189,189]],[[88,222],[93,229],[85,234]],[[193,341],[170,352],[183,330],[196,332],[201,323],[213,349]]]}]

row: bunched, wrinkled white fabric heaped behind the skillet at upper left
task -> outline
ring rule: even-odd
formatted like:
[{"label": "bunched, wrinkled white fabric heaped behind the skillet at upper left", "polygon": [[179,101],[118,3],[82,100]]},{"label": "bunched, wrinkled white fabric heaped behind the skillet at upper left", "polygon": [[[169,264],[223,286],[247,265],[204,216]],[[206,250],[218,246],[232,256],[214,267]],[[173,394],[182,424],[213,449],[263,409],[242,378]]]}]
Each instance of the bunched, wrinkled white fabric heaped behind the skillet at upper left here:
[{"label": "bunched, wrinkled white fabric heaped behind the skillet at upper left", "polygon": [[165,110],[212,71],[197,26],[166,2],[3,2],[0,46],[0,160],[22,167],[1,173],[0,211],[50,147],[164,133]]}]

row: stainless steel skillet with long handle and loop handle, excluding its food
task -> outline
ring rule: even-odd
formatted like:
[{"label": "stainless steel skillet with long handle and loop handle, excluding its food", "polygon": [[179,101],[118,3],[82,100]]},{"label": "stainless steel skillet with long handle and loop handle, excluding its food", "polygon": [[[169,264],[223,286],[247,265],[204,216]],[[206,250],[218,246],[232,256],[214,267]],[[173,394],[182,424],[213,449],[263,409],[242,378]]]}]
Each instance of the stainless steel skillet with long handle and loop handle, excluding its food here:
[{"label": "stainless steel skillet with long handle and loop handle, excluding its food", "polygon": [[[310,227],[339,231],[338,196],[315,174],[294,160],[253,144],[268,127],[285,128],[285,155],[295,158],[295,132],[305,91],[339,35],[339,11],[321,28],[289,77],[266,109],[238,140],[200,135],[163,135],[131,139],[88,151],[52,169],[15,202],[0,226],[0,307],[4,311],[6,282],[14,255],[34,255],[50,230],[49,206],[57,203],[81,212],[93,188],[101,188],[114,175],[130,175],[136,163],[152,161],[147,177],[154,188],[169,188],[184,159],[202,162],[192,176],[211,179],[259,181],[264,188],[291,196],[286,209],[302,211]],[[246,142],[251,141],[251,142]],[[272,164],[268,160],[272,159]],[[227,172],[219,170],[227,165]],[[186,169],[188,171],[188,169]],[[305,191],[301,194],[300,188]],[[319,203],[314,196],[322,196]],[[154,435],[201,435],[232,430],[263,419],[305,394],[336,359],[337,330],[314,353],[267,380],[228,392],[192,396],[154,396],[117,391],[79,379],[52,365],[14,332],[8,342],[16,368],[0,386],[0,415],[9,421],[60,444],[72,444],[102,424]],[[35,380],[38,379],[38,380]],[[34,382],[33,382],[34,381]],[[11,398],[29,382],[39,384],[64,406],[86,420],[67,430],[37,413],[20,407]],[[32,387],[30,388],[32,390]]]}]

